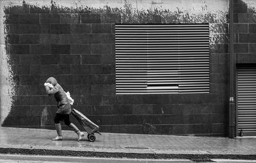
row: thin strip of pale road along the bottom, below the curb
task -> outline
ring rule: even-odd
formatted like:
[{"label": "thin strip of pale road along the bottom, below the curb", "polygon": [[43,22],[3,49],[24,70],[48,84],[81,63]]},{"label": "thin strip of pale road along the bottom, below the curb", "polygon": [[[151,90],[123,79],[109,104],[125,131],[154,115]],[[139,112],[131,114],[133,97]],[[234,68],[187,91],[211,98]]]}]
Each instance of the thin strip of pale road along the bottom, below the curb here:
[{"label": "thin strip of pale road along the bottom, below the curb", "polygon": [[[79,162],[90,162],[90,163],[191,163],[200,162],[199,160],[186,160],[186,159],[116,159],[116,158],[92,158],[92,157],[65,157],[65,156],[42,156],[42,155],[0,155],[0,163],[79,163]],[[202,162],[207,162],[202,160]],[[236,163],[252,163],[256,160],[221,160],[211,159],[209,162],[236,162]]]}]

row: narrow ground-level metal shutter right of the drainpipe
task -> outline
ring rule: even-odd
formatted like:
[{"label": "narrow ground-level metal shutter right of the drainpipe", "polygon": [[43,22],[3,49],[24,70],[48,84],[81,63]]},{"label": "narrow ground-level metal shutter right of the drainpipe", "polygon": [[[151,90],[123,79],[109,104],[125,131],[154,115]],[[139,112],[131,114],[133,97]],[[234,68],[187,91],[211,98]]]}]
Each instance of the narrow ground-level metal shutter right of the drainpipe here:
[{"label": "narrow ground-level metal shutter right of the drainpipe", "polygon": [[237,72],[238,135],[256,136],[256,69]]}]

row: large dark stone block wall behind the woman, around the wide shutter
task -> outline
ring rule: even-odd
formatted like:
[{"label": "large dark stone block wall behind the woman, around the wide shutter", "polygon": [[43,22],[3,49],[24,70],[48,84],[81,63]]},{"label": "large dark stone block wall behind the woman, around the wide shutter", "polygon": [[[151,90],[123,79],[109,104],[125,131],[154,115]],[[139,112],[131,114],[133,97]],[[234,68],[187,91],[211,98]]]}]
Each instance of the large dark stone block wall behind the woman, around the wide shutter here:
[{"label": "large dark stone block wall behind the woman, around the wide shutter", "polygon": [[[226,136],[228,11],[210,9],[218,5],[228,8],[227,1],[186,1],[198,12],[182,10],[184,3],[170,1],[161,4],[170,10],[136,9],[136,1],[116,3],[122,7],[111,3],[102,8],[54,3],[36,6],[26,2],[4,6],[4,56],[10,75],[3,77],[12,81],[12,94],[1,92],[1,97],[10,96],[12,103],[8,115],[1,116],[2,125],[54,129],[56,101],[45,95],[43,85],[54,76],[75,99],[74,108],[98,124],[102,132]],[[149,5],[146,1],[137,3]],[[115,24],[177,23],[209,24],[210,93],[116,95]],[[7,109],[2,99],[3,115]]]}]

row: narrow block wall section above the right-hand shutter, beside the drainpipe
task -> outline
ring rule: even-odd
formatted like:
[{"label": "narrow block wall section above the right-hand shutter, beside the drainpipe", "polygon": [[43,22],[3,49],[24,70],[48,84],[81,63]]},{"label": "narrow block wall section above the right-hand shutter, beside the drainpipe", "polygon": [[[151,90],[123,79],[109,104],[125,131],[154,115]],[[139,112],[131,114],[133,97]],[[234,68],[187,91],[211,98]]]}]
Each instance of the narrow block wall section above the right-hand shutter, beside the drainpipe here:
[{"label": "narrow block wall section above the right-hand shutter, beside the drainpipe", "polygon": [[234,53],[236,63],[256,63],[256,3],[235,1],[234,3]]}]

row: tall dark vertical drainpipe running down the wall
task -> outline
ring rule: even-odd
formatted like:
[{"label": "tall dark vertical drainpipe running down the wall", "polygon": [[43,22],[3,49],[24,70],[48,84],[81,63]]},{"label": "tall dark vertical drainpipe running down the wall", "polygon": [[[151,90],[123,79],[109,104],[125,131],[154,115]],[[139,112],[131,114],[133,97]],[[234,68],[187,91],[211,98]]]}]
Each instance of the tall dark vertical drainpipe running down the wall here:
[{"label": "tall dark vertical drainpipe running down the wall", "polygon": [[229,123],[228,123],[228,137],[236,138],[236,103],[235,103],[235,71],[236,71],[236,62],[235,62],[235,53],[234,53],[234,0],[229,1],[230,7],[230,81],[229,81]]}]

